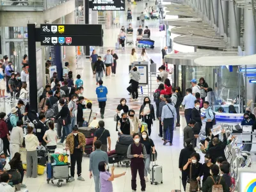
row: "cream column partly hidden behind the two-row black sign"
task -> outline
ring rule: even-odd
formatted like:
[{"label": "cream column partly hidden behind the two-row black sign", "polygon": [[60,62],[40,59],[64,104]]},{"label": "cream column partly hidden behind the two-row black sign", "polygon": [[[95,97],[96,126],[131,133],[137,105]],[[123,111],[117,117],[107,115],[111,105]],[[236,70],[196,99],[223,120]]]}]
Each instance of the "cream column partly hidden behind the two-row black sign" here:
[{"label": "cream column partly hidden behind the two-row black sign", "polygon": [[[75,12],[65,15],[65,24],[76,24]],[[74,70],[76,66],[76,46],[65,46],[65,61],[69,63],[70,68]]]}]

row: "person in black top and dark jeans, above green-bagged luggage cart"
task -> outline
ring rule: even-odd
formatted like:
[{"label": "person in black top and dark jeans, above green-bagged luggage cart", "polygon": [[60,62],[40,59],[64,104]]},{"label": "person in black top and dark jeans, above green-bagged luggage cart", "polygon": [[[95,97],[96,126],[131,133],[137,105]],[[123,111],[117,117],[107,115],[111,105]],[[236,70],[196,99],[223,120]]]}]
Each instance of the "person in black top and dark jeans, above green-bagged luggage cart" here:
[{"label": "person in black top and dark jeans, above green-bagged luggage cart", "polygon": [[67,104],[65,104],[64,99],[60,99],[59,103],[62,108],[59,111],[59,113],[54,117],[54,119],[58,120],[58,118],[60,117],[58,122],[60,122],[60,124],[63,125],[62,137],[61,137],[60,142],[58,143],[58,145],[62,145],[65,140],[65,136],[67,136],[71,132],[71,130],[70,130],[70,124],[71,124],[70,114],[71,113],[70,113],[70,110],[68,109]]}]

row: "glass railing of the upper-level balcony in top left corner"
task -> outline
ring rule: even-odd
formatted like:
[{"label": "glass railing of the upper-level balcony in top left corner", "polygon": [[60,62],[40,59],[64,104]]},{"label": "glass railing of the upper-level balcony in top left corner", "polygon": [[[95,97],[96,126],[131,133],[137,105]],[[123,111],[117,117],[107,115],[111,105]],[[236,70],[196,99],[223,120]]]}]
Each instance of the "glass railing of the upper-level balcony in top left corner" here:
[{"label": "glass railing of the upper-level balcony in top left corner", "polygon": [[43,11],[68,0],[0,0],[0,11]]}]

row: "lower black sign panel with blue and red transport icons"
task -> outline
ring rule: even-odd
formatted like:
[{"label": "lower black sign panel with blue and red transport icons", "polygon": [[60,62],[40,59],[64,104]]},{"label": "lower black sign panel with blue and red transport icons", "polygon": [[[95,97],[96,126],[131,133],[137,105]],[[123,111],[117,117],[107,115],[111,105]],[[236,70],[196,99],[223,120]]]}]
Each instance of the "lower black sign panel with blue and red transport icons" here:
[{"label": "lower black sign panel with blue and red transport icons", "polygon": [[102,46],[102,37],[98,35],[79,36],[79,35],[41,35],[41,45],[70,45],[70,46]]}]

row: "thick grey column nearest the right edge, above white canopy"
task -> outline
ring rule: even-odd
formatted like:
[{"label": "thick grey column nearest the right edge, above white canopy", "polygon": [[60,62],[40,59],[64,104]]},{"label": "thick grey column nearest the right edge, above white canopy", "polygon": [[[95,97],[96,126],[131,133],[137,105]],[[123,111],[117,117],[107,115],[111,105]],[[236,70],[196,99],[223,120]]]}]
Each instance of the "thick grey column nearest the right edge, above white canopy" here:
[{"label": "thick grey column nearest the right edge, above white canopy", "polygon": [[252,10],[244,9],[244,50],[246,55],[256,54],[256,35]]}]

